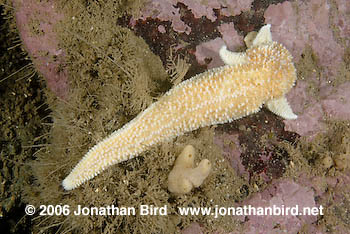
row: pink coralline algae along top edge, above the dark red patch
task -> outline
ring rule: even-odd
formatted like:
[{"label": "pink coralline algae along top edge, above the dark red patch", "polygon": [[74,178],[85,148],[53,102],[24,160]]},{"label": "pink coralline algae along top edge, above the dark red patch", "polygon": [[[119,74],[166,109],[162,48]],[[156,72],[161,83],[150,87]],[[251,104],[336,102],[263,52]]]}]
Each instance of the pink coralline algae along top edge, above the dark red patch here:
[{"label": "pink coralline algae along top edge, above the dark red patch", "polygon": [[206,17],[214,22],[217,20],[215,10],[220,10],[223,16],[234,16],[242,11],[249,10],[252,2],[252,0],[152,0],[143,8],[140,17],[133,18],[131,22],[139,19],[146,20],[147,18],[169,21],[175,32],[189,34],[191,27],[182,19],[178,4],[183,4],[192,12],[195,18]]}]

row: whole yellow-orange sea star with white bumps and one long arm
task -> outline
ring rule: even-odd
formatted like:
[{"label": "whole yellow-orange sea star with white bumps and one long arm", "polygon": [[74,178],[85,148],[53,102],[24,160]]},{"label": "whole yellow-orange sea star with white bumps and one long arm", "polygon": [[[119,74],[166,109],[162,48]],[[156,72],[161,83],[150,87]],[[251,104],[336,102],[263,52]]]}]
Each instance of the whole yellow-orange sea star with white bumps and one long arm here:
[{"label": "whole yellow-orange sea star with white bumps and one long arm", "polygon": [[200,127],[227,123],[260,110],[295,119],[284,95],[296,72],[288,50],[273,42],[270,25],[260,29],[245,53],[221,48],[225,66],[169,90],[135,119],[91,148],[63,180],[71,190],[107,167],[128,160],[162,141]]}]

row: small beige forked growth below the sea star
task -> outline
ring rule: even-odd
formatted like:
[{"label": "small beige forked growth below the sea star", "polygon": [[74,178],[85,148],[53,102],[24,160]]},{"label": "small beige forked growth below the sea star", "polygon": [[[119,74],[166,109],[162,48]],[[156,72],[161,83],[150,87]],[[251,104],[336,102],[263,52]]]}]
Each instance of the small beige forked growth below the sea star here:
[{"label": "small beige forked growth below the sea star", "polygon": [[185,194],[193,187],[199,187],[211,170],[211,163],[203,159],[194,168],[195,151],[192,145],[187,145],[175,161],[173,170],[168,177],[168,189],[172,193]]}]

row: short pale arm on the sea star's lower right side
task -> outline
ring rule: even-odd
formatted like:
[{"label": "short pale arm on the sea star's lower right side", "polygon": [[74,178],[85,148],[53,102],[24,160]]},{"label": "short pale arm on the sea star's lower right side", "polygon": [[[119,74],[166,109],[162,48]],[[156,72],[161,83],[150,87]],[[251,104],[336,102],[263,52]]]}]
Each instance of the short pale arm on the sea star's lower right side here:
[{"label": "short pale arm on the sea star's lower right side", "polygon": [[293,113],[285,96],[278,99],[272,99],[266,102],[267,108],[278,116],[285,119],[296,119],[298,116]]}]

